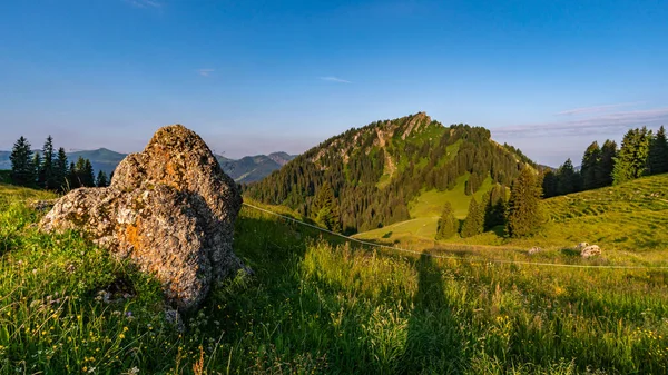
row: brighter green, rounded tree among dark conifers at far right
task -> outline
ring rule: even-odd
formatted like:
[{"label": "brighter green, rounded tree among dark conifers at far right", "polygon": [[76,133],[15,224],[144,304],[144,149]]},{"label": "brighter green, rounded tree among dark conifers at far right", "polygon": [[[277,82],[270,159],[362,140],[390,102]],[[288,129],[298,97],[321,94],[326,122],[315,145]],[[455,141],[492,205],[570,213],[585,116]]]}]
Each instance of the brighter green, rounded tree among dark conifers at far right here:
[{"label": "brighter green, rounded tree among dark conifers at far right", "polygon": [[627,131],[615,159],[615,169],[612,169],[615,185],[647,175],[651,140],[651,130],[647,127]]}]

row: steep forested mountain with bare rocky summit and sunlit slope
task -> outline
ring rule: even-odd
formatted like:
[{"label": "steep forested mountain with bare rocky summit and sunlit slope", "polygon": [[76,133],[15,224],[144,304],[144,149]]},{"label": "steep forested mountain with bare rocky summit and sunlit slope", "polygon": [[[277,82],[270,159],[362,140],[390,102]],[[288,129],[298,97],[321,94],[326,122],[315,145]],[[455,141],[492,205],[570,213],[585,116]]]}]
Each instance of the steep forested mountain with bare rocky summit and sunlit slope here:
[{"label": "steep forested mountain with bare rocky summit and sunlit slope", "polygon": [[463,184],[472,195],[483,186],[510,186],[523,165],[537,168],[520,150],[493,141],[488,129],[444,127],[419,112],[332,137],[245,194],[316,218],[322,207],[315,197],[328,185],[344,233],[352,234],[410,219],[409,203],[426,190]]}]

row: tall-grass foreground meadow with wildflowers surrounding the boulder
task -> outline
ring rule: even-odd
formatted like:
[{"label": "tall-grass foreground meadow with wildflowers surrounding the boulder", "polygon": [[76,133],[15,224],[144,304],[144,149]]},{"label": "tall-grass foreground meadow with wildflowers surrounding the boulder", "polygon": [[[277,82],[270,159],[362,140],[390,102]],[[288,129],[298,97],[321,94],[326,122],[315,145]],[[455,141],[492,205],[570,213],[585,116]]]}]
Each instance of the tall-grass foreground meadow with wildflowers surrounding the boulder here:
[{"label": "tall-grass foreground meadow with wildflowers surrounding the boulder", "polygon": [[179,330],[150,277],[37,230],[22,200],[47,195],[0,191],[2,374],[668,372],[666,270],[405,256],[244,207],[235,251],[255,275],[218,285]]}]

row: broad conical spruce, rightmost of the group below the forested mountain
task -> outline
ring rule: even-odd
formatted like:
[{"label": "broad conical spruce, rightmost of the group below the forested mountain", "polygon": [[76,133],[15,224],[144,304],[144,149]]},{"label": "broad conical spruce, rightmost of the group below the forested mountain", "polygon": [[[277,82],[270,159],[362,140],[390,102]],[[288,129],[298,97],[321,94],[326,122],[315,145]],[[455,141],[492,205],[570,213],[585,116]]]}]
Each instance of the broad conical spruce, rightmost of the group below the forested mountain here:
[{"label": "broad conical spruce, rightmost of the group below the forested mountain", "polygon": [[533,171],[523,168],[512,184],[508,203],[505,229],[511,237],[529,236],[540,227],[542,223],[541,190]]}]

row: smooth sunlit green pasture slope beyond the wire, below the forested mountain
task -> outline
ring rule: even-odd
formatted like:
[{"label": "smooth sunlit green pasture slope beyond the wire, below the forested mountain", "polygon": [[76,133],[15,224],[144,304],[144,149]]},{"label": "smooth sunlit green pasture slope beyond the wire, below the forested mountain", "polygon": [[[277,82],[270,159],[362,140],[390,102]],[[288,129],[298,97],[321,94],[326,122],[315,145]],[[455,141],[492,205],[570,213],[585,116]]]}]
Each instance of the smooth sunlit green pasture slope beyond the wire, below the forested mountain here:
[{"label": "smooth sunlit green pasture slope beyond the wire, below the forested mountain", "polygon": [[[639,253],[668,249],[668,175],[644,177],[619,186],[544,199],[542,208],[548,221],[536,236],[521,239],[505,238],[498,230],[466,239],[435,243],[433,235],[438,217],[434,214],[438,213],[438,204],[443,200],[434,193],[423,194],[422,197],[424,198],[415,207],[432,208],[412,210],[412,214],[419,214],[412,216],[415,219],[356,237],[382,241],[402,240],[405,244],[421,240],[424,247],[448,244],[456,247],[459,244],[560,249],[587,241],[609,250]],[[453,204],[461,218],[461,209],[465,207],[463,199],[451,196],[448,200]],[[419,226],[423,228],[416,230]]]}]

